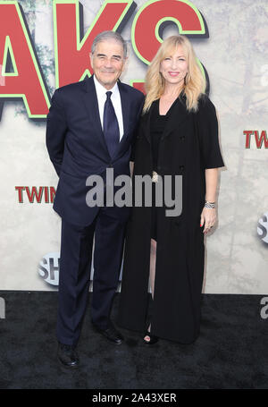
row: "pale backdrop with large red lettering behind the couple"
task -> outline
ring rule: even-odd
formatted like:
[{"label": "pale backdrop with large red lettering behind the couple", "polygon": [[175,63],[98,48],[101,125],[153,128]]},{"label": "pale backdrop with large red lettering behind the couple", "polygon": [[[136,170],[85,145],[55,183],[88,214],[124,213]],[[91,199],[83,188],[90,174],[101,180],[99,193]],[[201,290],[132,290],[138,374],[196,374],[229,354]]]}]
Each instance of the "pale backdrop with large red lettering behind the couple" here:
[{"label": "pale backdrop with large red lettering behind the couple", "polygon": [[127,40],[121,81],[138,89],[163,38],[192,41],[226,165],[219,222],[205,238],[204,292],[268,293],[266,0],[0,1],[0,289],[57,290],[61,219],[46,114],[54,89],[90,76],[103,30]]}]

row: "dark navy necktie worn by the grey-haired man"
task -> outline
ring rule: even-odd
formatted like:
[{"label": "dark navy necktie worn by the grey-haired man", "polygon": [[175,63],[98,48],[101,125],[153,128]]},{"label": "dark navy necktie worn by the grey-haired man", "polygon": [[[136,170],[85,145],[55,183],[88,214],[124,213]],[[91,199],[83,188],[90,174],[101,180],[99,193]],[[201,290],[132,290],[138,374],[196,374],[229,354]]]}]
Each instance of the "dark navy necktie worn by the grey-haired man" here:
[{"label": "dark navy necktie worn by the grey-haired man", "polygon": [[104,110],[104,135],[109,154],[111,157],[113,157],[119,144],[120,132],[116,114],[113,109],[113,103],[111,100],[112,92],[106,92],[106,95],[107,98],[105,101]]}]

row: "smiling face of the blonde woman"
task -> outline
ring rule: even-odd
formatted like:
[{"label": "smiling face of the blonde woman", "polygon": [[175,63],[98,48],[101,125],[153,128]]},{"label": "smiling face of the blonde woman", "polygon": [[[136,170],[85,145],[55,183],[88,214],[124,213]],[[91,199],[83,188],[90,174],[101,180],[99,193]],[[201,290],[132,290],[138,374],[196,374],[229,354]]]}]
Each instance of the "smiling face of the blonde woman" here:
[{"label": "smiling face of the blonde woman", "polygon": [[172,55],[167,55],[160,63],[160,72],[166,84],[182,86],[188,72],[185,52],[178,46]]}]

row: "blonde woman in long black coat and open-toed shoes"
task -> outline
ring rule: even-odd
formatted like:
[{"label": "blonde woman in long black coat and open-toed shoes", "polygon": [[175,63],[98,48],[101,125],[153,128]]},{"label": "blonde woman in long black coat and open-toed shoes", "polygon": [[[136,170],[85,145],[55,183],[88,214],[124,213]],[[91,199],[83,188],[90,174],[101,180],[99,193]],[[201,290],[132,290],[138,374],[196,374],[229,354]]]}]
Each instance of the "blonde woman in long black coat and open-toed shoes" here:
[{"label": "blonde woman in long black coat and open-toed shoes", "polygon": [[[133,175],[152,177],[153,205],[132,208],[118,323],[144,332],[147,344],[159,337],[192,343],[200,329],[204,234],[216,222],[218,168],[224,164],[215,108],[188,38],[163,41],[147,71],[146,90]],[[155,206],[156,182],[164,184],[165,175],[172,176],[173,199],[180,193],[175,175],[181,175],[179,215],[167,216],[164,200]]]}]

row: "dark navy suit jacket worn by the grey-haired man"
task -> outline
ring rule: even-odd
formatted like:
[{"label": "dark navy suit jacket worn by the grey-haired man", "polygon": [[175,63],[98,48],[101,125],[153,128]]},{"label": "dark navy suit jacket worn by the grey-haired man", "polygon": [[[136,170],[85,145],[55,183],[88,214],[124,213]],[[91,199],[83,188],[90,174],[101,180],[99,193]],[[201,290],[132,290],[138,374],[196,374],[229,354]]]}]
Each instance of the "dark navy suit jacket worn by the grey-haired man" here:
[{"label": "dark navy suit jacket worn by the grey-haired man", "polygon": [[[143,94],[118,81],[124,135],[114,157],[110,157],[102,131],[93,77],[56,89],[47,114],[46,147],[59,175],[54,210],[73,225],[86,226],[99,208],[89,208],[86,195],[89,175],[101,175],[106,168],[114,176],[130,174],[131,146],[144,103]],[[113,208],[113,216],[126,221],[130,208]]]}]

